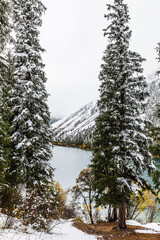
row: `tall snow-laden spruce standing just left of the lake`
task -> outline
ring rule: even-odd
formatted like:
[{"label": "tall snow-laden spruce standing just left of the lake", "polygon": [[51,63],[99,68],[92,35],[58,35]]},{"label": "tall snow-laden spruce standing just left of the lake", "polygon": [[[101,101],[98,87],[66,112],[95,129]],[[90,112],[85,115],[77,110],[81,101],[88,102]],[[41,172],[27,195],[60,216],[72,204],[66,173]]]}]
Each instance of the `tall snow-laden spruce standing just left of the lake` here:
[{"label": "tall snow-laden spruce standing just left of the lake", "polygon": [[[40,0],[13,0],[13,22],[16,32],[15,78],[12,111],[13,134],[11,176],[19,174],[19,183],[26,187],[25,218],[31,215],[32,192],[45,189],[52,180],[52,131],[46,104],[48,94],[38,28],[45,7]],[[36,190],[37,189],[37,190]],[[41,194],[40,198],[44,196]],[[37,201],[38,206],[38,201]],[[36,209],[36,206],[35,206]],[[39,213],[39,217],[40,217]],[[34,219],[36,221],[36,219]],[[38,220],[39,221],[39,220]]]}]

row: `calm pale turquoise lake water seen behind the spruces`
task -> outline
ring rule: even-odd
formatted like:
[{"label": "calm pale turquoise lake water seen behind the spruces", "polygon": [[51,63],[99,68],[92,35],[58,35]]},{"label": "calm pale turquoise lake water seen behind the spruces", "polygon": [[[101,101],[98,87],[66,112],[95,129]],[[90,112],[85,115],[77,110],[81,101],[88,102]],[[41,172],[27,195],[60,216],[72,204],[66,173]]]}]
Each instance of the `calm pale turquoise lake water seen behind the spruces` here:
[{"label": "calm pale turquoise lake water seen behind the spruces", "polygon": [[[51,164],[55,168],[55,180],[65,189],[72,187],[80,171],[90,163],[91,157],[90,151],[54,146]],[[160,164],[160,160],[156,164]],[[147,172],[144,173],[144,178],[151,182]]]}]

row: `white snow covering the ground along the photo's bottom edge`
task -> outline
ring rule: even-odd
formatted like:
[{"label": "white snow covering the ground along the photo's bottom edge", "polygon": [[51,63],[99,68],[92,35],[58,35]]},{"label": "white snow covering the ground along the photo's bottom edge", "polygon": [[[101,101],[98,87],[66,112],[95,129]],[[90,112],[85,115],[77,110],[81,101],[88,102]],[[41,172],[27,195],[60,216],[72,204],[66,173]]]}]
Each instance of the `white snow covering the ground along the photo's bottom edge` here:
[{"label": "white snow covering the ground along the photo's bottom edge", "polygon": [[[24,226],[18,220],[14,222],[13,229],[3,229],[5,220],[4,215],[0,217],[0,240],[97,240],[96,236],[88,235],[73,227],[71,220],[62,220],[57,224],[53,223],[50,234],[33,231],[29,228],[26,232]],[[128,220],[127,225],[143,227],[144,230],[136,230],[138,233],[160,233],[160,224],[157,223],[144,225],[134,220]]]}]

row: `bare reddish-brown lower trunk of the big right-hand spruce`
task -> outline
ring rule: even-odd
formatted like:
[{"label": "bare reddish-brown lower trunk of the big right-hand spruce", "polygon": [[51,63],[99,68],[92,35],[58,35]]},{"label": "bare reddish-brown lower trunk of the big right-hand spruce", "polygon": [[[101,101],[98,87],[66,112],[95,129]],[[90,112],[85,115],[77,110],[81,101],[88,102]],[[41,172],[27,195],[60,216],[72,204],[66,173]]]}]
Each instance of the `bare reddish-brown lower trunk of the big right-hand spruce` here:
[{"label": "bare reddish-brown lower trunk of the big right-hand spruce", "polygon": [[119,219],[118,219],[118,227],[121,229],[126,229],[126,200],[125,200],[125,195],[122,193],[122,205],[119,208]]}]

